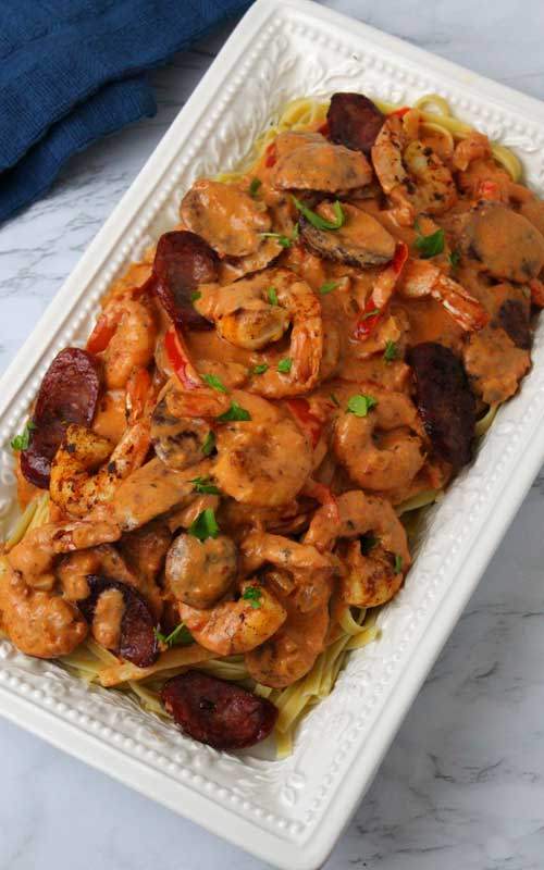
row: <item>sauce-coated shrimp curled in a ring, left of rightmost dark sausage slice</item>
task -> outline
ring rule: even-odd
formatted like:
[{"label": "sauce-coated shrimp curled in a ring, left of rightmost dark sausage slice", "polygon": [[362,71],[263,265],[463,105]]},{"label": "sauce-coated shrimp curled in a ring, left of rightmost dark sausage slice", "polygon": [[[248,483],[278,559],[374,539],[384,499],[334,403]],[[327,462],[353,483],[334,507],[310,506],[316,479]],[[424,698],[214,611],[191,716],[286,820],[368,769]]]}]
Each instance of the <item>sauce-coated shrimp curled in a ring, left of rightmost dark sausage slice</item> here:
[{"label": "sauce-coated shrimp curled in a ring, left of rightmost dark sausage slice", "polygon": [[372,398],[378,403],[366,417],[343,413],[338,418],[334,450],[351,480],[364,489],[401,489],[425,461],[421,422],[404,393],[373,388]]}]

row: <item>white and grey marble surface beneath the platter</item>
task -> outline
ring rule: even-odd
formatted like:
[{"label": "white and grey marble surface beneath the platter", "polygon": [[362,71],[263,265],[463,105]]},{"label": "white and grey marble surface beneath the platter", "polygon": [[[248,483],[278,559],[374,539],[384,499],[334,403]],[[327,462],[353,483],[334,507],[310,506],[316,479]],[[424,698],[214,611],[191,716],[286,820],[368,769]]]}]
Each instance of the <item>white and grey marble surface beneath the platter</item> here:
[{"label": "white and grey marble surface beneath the platter", "polygon": [[[542,0],[327,0],[544,98]],[[28,335],[227,29],[152,74],[160,111],[72,161],[0,227],[0,368]],[[327,870],[544,867],[544,473],[531,489]],[[0,870],[264,865],[0,721]]]}]

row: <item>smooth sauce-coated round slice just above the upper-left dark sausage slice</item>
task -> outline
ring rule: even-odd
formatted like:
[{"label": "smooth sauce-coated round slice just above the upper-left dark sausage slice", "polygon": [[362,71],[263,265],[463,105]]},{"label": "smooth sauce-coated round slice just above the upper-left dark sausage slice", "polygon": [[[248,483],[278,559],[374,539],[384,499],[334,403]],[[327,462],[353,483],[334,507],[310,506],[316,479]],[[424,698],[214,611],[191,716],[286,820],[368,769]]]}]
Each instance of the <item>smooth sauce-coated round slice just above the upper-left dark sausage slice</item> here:
[{"label": "smooth sauce-coated round slice just above the upper-left dark sausage slice", "polygon": [[245,257],[262,244],[271,227],[262,202],[234,185],[207,178],[195,182],[181,206],[182,220],[220,257]]}]

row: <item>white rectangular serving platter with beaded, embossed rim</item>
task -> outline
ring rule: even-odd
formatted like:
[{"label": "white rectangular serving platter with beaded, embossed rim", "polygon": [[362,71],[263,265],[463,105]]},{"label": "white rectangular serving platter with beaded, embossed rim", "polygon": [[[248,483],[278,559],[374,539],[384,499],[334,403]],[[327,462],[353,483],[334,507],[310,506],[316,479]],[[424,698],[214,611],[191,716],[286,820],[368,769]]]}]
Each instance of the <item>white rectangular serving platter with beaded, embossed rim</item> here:
[{"label": "white rectangular serving platter with beaded, embossed rim", "polygon": [[[67,278],[0,384],[0,522],[12,521],[9,442],[54,355],[83,341],[112,278],[177,219],[183,191],[234,167],[294,97],[358,90],[399,104],[428,92],[511,147],[544,192],[544,105],[307,0],[258,0]],[[368,788],[409,705],[544,460],[544,333],[520,394],[433,509],[382,638],[354,654],[294,754],[218,753],[118,693],[0,642],[0,712],[285,870],[314,870]],[[0,530],[2,531],[2,530]]]}]

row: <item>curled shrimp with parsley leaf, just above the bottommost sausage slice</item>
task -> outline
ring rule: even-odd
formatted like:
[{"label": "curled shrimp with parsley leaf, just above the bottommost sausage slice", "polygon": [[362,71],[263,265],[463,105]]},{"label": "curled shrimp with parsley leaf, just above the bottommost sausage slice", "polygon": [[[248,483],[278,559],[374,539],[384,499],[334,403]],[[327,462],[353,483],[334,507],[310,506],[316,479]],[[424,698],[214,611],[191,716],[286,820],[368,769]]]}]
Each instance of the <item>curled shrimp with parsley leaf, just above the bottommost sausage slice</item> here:
[{"label": "curled shrimp with parsley leaf, just above the bottommost sausage slice", "polygon": [[222,601],[211,610],[180,605],[182,620],[205,649],[219,656],[248,652],[285,622],[285,607],[257,580],[244,581],[240,593],[237,601]]}]

